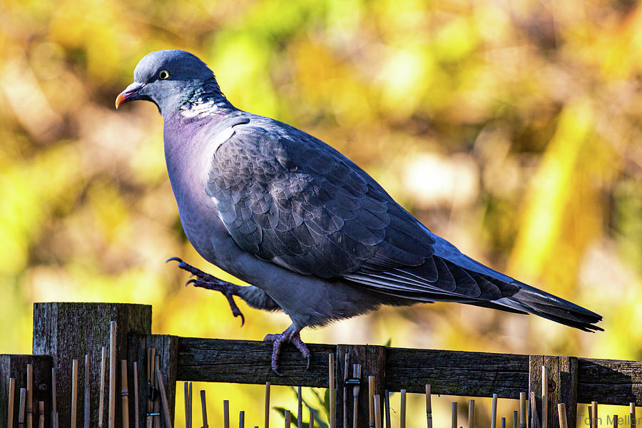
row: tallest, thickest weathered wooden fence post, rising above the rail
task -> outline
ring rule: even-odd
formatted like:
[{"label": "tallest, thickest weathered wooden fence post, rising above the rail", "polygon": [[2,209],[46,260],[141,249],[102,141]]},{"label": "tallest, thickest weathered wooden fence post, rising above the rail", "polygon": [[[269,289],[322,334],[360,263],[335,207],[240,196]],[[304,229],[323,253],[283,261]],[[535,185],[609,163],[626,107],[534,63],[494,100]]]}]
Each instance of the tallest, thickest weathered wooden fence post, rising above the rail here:
[{"label": "tallest, thickest weathered wooden fence post, rising above the rail", "polygon": [[[51,355],[56,368],[56,401],[58,422],[61,427],[70,425],[71,416],[71,361],[84,361],[89,355],[91,369],[91,427],[98,427],[98,400],[101,372],[101,347],[109,344],[109,324],[116,321],[116,361],[128,355],[128,335],[151,333],[151,306],[124,303],[76,303],[48,302],[34,304],[34,355]],[[109,365],[108,365],[109,366]],[[121,376],[116,365],[116,389],[120,391]],[[84,367],[78,370],[78,385],[84,382]],[[106,392],[108,391],[109,367],[106,370]],[[172,385],[173,386],[173,385]],[[78,397],[78,409],[84,406],[83,394]],[[133,400],[131,400],[133,404]],[[108,394],[103,401],[107,426]],[[83,426],[83,412],[77,412],[77,427]],[[133,411],[130,411],[133,414]],[[116,399],[116,426],[120,426],[121,397]]]}]

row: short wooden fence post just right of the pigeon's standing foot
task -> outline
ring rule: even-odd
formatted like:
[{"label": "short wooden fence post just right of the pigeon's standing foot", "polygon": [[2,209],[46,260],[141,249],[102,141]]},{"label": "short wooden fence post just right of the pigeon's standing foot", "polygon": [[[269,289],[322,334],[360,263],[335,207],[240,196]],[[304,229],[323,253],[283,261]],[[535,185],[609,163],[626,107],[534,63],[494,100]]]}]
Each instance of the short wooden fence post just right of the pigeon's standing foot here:
[{"label": "short wooden fence post just right of the pigeon's standing foot", "polygon": [[[386,348],[372,345],[337,345],[337,367],[335,376],[337,378],[337,417],[335,427],[343,428],[343,400],[347,401],[348,427],[352,428],[352,387],[347,387],[347,397],[343,395],[343,379],[345,372],[345,356],[350,360],[348,379],[352,378],[352,367],[355,364],[361,365],[361,383],[358,399],[358,423],[357,427],[369,426],[369,404],[368,404],[368,376],[374,376],[374,394],[384,397],[384,385],[386,382]],[[383,400],[382,400],[383,402]],[[373,425],[374,427],[374,425]]]}]

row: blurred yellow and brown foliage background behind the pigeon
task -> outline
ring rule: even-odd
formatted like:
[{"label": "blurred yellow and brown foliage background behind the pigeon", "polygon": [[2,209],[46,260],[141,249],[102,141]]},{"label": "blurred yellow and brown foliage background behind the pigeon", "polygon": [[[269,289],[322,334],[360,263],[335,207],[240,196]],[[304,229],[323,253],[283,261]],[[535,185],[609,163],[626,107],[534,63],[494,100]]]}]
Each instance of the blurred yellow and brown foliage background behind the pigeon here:
[{"label": "blurred yellow and brown foliage background behind the pigeon", "polygon": [[[155,106],[113,108],[157,49],[200,56],[235,106],[330,143],[464,253],[600,313],[606,330],[435,304],[303,340],[642,360],[630,0],[0,0],[1,352],[31,352],[35,301],[151,304],[154,332],[182,336],[261,340],[290,324],[240,303],[240,328],[220,293],[183,287],[164,263],[233,280],[183,235]],[[263,388],[208,388],[213,417],[225,395],[261,420]]]}]

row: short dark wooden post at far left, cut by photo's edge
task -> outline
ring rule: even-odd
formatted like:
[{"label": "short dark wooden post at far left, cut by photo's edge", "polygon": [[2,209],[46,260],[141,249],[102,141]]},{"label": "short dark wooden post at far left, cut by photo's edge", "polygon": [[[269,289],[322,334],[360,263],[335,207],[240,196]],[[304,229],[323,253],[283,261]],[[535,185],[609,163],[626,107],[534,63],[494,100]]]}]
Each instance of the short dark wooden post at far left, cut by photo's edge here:
[{"label": "short dark wooden post at far left, cut by photo's edge", "polygon": [[[26,366],[34,367],[34,394],[31,404],[34,427],[38,421],[38,402],[45,403],[45,427],[51,425],[51,357],[48,355],[0,355],[0,428],[6,428],[9,414],[9,378],[16,379],[14,392],[14,427],[18,426],[20,388],[26,388]],[[27,406],[29,407],[29,406]]]}]

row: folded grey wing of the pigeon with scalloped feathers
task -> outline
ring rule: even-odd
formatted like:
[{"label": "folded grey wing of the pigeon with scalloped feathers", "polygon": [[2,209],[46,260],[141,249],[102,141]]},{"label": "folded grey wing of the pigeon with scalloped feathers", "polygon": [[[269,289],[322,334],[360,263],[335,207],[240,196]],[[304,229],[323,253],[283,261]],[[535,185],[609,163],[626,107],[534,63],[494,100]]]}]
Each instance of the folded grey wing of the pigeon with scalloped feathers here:
[{"label": "folded grey wing of the pigeon with scalloped feathers", "polygon": [[235,129],[215,153],[206,190],[243,250],[412,300],[474,303],[516,292],[435,254],[447,241],[322,141],[278,122]]}]

